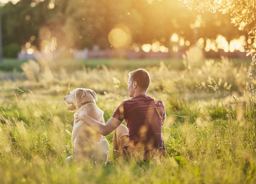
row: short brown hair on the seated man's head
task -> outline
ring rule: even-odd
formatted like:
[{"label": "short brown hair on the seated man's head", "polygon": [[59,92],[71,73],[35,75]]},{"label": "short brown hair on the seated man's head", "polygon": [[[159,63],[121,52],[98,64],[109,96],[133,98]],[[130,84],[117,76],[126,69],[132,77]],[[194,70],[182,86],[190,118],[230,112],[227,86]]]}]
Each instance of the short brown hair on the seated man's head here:
[{"label": "short brown hair on the seated man's head", "polygon": [[150,76],[149,73],[144,69],[138,69],[135,71],[132,71],[129,73],[131,76],[132,82],[137,82],[139,85],[139,88],[141,88],[144,91],[148,90],[149,84],[150,84]]}]

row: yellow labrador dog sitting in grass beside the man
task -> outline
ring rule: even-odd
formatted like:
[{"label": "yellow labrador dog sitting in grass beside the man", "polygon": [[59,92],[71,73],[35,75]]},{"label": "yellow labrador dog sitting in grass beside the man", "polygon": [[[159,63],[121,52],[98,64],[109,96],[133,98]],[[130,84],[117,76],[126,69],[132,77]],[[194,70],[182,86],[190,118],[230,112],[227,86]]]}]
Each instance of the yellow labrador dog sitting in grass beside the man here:
[{"label": "yellow labrador dog sitting in grass beside the man", "polygon": [[[64,97],[67,104],[72,104],[68,110],[77,113],[86,108],[87,114],[93,119],[104,124],[103,111],[95,104],[94,99],[98,102],[96,93],[91,89],[77,88]],[[71,163],[74,158],[77,162],[83,159],[90,159],[93,163],[107,161],[109,145],[104,136],[94,131],[84,120],[74,121],[72,132],[72,145],[74,147],[73,157],[66,158]]]}]

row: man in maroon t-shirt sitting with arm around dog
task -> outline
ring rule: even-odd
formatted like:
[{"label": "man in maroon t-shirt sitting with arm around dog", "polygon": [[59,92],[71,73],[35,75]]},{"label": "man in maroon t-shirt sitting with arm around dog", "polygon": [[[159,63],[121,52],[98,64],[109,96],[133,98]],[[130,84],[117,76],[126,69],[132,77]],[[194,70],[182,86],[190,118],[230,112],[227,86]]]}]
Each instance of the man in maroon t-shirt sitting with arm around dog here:
[{"label": "man in maroon t-shirt sitting with arm around dog", "polygon": [[[106,136],[114,131],[113,154],[123,158],[150,159],[165,155],[162,126],[166,120],[165,107],[159,100],[146,95],[150,84],[149,73],[138,69],[129,73],[130,100],[122,102],[106,124],[102,124],[81,111],[76,119],[83,119],[95,131]],[[122,121],[125,120],[127,127]]]}]

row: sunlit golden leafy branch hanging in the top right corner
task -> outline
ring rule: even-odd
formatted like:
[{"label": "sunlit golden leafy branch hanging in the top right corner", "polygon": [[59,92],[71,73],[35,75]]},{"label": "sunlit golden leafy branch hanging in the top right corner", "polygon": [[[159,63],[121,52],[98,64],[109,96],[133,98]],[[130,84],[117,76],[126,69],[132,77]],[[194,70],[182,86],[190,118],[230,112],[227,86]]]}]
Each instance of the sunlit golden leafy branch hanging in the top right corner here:
[{"label": "sunlit golden leafy branch hanging in the top right corner", "polygon": [[231,15],[231,23],[248,33],[247,56],[256,55],[256,1],[255,0],[179,0],[182,6],[198,12],[217,11]]}]

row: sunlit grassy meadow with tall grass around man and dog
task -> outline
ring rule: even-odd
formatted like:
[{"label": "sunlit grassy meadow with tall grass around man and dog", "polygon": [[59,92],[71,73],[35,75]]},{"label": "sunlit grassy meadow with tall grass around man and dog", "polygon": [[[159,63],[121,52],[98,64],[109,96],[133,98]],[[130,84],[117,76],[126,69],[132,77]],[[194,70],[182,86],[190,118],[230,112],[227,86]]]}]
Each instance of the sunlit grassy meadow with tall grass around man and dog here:
[{"label": "sunlit grassy meadow with tall grass around man and dog", "polygon": [[[59,60],[0,64],[0,183],[255,183],[255,61]],[[125,99],[128,73],[151,75],[147,95],[166,108],[166,157],[65,163],[74,112],[63,97],[97,93],[105,122]],[[117,78],[120,83],[114,83]],[[107,94],[107,95],[106,95]]]}]

